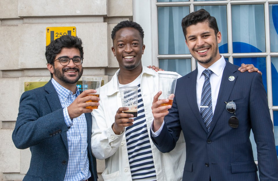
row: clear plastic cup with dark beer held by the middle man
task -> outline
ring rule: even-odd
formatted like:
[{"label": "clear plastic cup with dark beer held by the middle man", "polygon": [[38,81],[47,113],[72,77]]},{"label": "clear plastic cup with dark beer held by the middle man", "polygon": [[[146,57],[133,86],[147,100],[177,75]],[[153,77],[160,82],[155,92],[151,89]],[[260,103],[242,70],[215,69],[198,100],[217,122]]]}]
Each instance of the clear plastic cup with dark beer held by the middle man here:
[{"label": "clear plastic cup with dark beer held by the middle man", "polygon": [[137,106],[138,106],[138,86],[119,87],[122,107],[127,107],[127,111],[124,113],[133,114],[133,117],[137,117]]}]

